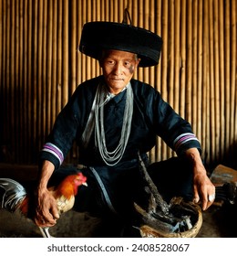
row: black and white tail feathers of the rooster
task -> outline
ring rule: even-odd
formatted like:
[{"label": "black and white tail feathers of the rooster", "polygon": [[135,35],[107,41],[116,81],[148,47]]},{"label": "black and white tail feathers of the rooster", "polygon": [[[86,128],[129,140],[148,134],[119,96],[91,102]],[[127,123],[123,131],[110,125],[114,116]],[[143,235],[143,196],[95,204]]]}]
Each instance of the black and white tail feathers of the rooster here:
[{"label": "black and white tail feathers of the rooster", "polygon": [[[26,204],[26,188],[13,179],[0,178],[0,209],[15,212],[22,207],[27,211]],[[22,213],[26,215],[26,212]]]}]

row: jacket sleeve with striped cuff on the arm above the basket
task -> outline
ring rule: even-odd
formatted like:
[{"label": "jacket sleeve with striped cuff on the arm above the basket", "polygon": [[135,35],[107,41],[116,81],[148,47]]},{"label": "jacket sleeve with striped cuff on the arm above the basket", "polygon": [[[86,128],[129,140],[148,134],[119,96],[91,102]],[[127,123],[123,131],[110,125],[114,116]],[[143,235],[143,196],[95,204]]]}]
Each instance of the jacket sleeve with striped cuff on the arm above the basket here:
[{"label": "jacket sleeve with striped cuff on the arm above the basket", "polygon": [[198,148],[201,153],[201,144],[192,132],[191,124],[162,99],[160,92],[149,84],[139,84],[136,88],[139,88],[139,101],[145,106],[146,122],[153,133],[160,136],[177,155],[192,147]]}]

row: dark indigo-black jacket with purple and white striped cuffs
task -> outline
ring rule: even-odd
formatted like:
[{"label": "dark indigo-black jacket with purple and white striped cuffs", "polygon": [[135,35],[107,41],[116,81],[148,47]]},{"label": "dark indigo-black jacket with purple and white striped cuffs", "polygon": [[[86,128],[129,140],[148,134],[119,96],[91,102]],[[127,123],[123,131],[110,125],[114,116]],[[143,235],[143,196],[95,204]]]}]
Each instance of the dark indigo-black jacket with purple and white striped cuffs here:
[{"label": "dark indigo-black jacket with purple and white striped cuffs", "polygon": [[[62,164],[73,142],[79,147],[78,162],[83,165],[105,165],[98,153],[92,133],[90,143],[84,148],[81,135],[86,127],[88,116],[97,91],[99,76],[87,80],[77,87],[67,105],[57,116],[40,159],[51,161],[56,168]],[[191,125],[180,117],[170,105],[163,101],[160,92],[139,80],[130,81],[134,93],[134,109],[129,143],[122,161],[149,152],[160,136],[177,155],[191,147],[201,151],[201,145],[191,131]],[[120,92],[105,106],[105,132],[108,150],[117,146],[120,138],[123,112],[126,100],[125,91]]]}]

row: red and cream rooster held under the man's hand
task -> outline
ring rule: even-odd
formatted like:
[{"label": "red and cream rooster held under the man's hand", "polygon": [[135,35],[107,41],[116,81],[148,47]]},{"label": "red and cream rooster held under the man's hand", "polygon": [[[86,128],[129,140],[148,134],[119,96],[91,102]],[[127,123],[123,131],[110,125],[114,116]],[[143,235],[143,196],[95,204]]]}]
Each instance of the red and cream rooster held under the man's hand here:
[{"label": "red and cream rooster held under the man's hand", "polygon": [[[49,187],[48,190],[57,200],[58,214],[67,212],[74,206],[77,188],[81,185],[88,186],[87,177],[82,173],[67,176],[56,187]],[[9,212],[19,210],[26,218],[33,219],[34,198],[32,193],[26,191],[17,181],[10,178],[0,178],[0,209]],[[49,228],[38,227],[45,238],[50,238]]]}]

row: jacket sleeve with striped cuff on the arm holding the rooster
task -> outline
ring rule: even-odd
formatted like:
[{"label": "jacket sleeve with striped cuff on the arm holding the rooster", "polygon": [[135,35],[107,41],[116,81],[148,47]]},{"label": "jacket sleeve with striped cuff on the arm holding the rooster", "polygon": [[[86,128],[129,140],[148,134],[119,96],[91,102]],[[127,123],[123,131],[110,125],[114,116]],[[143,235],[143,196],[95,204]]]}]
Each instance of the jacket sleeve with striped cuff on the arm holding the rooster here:
[{"label": "jacket sleeve with striped cuff on the arm holding the rooster", "polygon": [[101,77],[87,80],[77,86],[67,105],[57,115],[51,133],[39,155],[39,162],[48,160],[56,169],[63,163],[67,153],[87,124],[88,115]]}]

